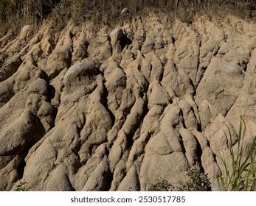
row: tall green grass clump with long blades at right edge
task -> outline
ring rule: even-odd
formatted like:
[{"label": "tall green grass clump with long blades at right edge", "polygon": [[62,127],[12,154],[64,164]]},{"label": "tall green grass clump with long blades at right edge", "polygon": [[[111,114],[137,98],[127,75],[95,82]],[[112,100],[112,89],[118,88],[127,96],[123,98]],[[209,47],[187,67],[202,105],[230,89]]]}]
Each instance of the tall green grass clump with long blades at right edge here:
[{"label": "tall green grass clump with long blades at right edge", "polygon": [[[255,191],[256,189],[256,137],[253,139],[247,152],[243,148],[243,138],[246,129],[243,129],[244,121],[241,118],[238,130],[238,151],[232,146],[232,135],[229,127],[230,153],[232,167],[228,166],[224,154],[220,154],[221,163],[224,166],[223,175],[218,177],[218,186],[222,191]],[[245,154],[245,157],[243,157]]]}]

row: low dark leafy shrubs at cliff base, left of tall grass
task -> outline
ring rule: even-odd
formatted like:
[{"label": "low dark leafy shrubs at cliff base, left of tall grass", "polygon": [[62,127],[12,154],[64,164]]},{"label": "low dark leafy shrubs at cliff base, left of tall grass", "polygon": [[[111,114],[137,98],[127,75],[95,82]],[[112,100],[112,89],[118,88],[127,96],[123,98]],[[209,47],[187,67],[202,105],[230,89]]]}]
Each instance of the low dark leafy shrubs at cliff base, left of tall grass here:
[{"label": "low dark leafy shrubs at cliff base, left of tall grass", "polygon": [[207,174],[200,171],[200,167],[196,165],[187,171],[186,182],[179,182],[179,186],[174,187],[167,180],[158,179],[156,183],[151,184],[148,191],[211,191],[210,180]]}]

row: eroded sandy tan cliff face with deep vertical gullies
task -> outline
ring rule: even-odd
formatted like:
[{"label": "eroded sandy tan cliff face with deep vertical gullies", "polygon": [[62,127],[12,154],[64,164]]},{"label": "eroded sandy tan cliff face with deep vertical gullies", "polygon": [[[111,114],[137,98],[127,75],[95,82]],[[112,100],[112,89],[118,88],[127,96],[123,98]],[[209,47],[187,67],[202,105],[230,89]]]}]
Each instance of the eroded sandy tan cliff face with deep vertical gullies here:
[{"label": "eroded sandy tan cliff face with deep vertical gullies", "polygon": [[[25,26],[0,45],[0,189],[145,191],[199,163],[212,184],[240,116],[256,135],[256,26],[134,18]],[[32,35],[35,33],[35,35]]]}]

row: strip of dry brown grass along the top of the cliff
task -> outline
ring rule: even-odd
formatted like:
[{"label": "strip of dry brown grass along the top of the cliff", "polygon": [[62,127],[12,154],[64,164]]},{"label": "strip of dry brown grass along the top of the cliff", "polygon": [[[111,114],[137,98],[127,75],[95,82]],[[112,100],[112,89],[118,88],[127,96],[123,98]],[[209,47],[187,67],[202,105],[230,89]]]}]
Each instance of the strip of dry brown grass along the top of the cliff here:
[{"label": "strip of dry brown grass along the top of the cliff", "polygon": [[18,32],[26,24],[40,24],[44,19],[63,24],[71,18],[88,18],[97,24],[111,24],[124,17],[120,11],[125,7],[130,11],[126,19],[150,8],[190,23],[196,13],[218,13],[220,8],[226,8],[223,15],[234,13],[248,18],[256,9],[256,0],[0,0],[0,36],[10,29]]}]

